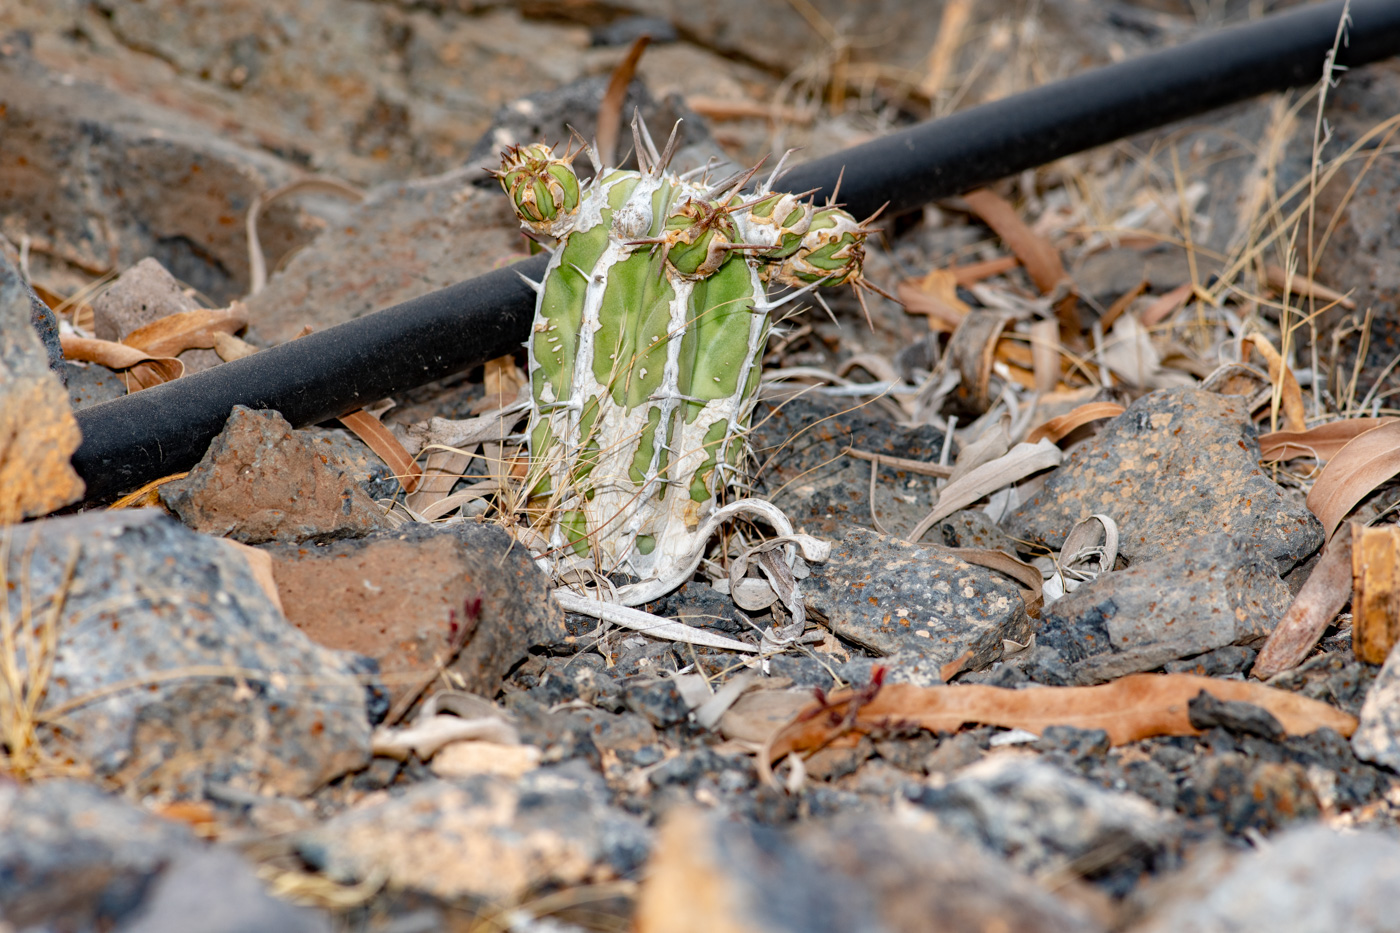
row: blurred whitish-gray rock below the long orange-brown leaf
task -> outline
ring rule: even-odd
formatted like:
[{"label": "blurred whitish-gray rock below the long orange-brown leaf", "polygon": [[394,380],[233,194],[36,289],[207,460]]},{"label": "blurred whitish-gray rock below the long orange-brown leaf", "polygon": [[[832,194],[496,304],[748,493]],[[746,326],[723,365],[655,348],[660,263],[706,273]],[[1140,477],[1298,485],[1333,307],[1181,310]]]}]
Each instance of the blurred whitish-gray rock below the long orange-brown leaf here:
[{"label": "blurred whitish-gray rock below the long orange-brown leaf", "polygon": [[[1025,755],[993,755],[913,800],[941,827],[1004,856],[1026,874],[1100,859],[1112,888],[1126,891],[1175,845],[1175,818],[1147,800],[1105,790]],[[1113,853],[1109,857],[1109,853]],[[1100,874],[1079,866],[1089,877]]]}]

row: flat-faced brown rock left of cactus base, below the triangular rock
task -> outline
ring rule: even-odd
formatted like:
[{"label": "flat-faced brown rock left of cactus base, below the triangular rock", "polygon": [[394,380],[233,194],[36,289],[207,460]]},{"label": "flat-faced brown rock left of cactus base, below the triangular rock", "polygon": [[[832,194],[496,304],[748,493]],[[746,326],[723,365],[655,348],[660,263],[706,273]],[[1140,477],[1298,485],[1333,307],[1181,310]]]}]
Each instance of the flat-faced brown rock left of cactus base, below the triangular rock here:
[{"label": "flat-faced brown rock left of cactus base, below the triangular rock", "polygon": [[[379,664],[395,699],[435,678],[493,696],[563,611],[524,548],[493,525],[406,525],[360,541],[272,549],[283,611],[311,640]],[[449,657],[454,640],[465,647]]]}]

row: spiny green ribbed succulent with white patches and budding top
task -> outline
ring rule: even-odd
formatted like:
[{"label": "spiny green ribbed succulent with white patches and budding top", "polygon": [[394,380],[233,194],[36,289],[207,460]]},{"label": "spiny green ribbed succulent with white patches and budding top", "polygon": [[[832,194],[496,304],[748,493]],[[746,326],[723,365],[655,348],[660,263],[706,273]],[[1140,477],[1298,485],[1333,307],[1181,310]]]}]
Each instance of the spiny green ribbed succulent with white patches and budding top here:
[{"label": "spiny green ribbed succulent with white patches and budding top", "polygon": [[[529,234],[556,241],[528,343],[529,509],[563,572],[620,572],[636,605],[694,572],[742,486],[771,312],[862,284],[867,227],[773,191],[668,171],[634,123],[640,171],[578,181],[578,151],[507,150],[497,174]],[[781,168],[781,164],[780,164]],[[769,297],[767,287],[778,294]],[[738,503],[735,503],[738,504]],[[762,511],[771,516],[771,506]]]}]

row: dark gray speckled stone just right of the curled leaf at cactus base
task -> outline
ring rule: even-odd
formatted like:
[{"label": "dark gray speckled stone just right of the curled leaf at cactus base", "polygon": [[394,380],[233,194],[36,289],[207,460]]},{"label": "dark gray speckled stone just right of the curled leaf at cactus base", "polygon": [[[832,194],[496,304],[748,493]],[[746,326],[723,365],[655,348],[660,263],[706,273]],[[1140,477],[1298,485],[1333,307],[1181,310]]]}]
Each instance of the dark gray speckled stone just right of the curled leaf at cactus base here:
[{"label": "dark gray speckled stone just right of the curled leaf at cactus base", "polygon": [[911,654],[977,671],[1023,644],[1030,618],[1005,577],[958,559],[948,548],[911,545],[851,528],[832,556],[812,565],[806,604],[833,632],[876,654]]}]

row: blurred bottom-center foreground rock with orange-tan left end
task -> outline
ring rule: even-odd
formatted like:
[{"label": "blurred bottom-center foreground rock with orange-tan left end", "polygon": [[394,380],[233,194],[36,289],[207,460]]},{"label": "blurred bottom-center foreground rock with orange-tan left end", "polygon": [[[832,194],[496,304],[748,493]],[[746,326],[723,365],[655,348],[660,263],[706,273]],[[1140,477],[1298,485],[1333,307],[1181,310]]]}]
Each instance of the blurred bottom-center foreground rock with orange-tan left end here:
[{"label": "blurred bottom-center foreground rock with orange-tan left end", "polygon": [[910,817],[853,814],[781,832],[679,810],[648,864],[637,930],[1102,929],[994,857]]}]

